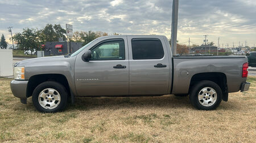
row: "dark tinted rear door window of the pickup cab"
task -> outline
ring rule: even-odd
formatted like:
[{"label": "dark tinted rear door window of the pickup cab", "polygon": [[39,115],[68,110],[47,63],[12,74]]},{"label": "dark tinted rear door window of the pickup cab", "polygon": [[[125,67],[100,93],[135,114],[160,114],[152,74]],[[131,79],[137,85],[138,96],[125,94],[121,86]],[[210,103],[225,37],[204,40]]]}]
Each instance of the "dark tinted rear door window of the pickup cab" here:
[{"label": "dark tinted rear door window of the pickup cab", "polygon": [[162,42],[157,38],[133,38],[131,40],[133,59],[162,59]]}]

